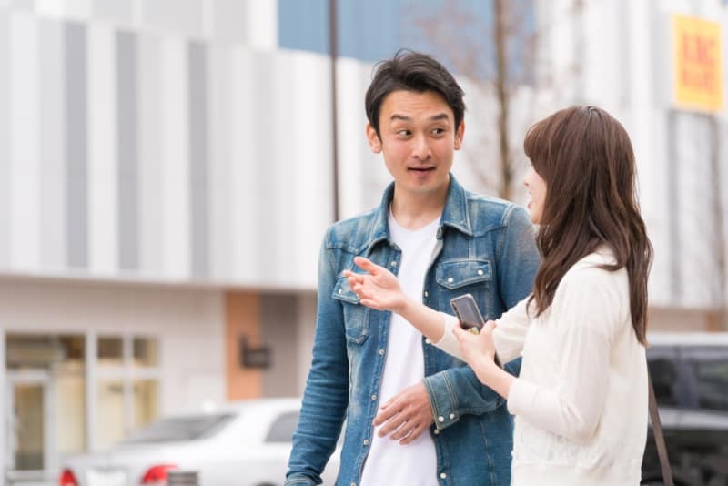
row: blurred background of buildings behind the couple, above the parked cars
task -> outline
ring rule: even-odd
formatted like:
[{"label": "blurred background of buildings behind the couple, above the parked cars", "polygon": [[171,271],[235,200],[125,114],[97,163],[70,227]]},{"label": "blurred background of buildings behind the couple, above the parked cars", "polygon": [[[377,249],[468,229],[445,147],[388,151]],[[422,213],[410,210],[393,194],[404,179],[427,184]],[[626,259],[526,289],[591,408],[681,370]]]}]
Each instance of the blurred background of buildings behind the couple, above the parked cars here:
[{"label": "blurred background of buildings behind the couple, above the parked cars", "polygon": [[465,88],[472,190],[523,203],[556,109],[620,119],[651,329],[727,330],[726,25],[725,0],[0,0],[0,471],[300,394],[324,230],[389,182],[364,93],[401,47]]}]

